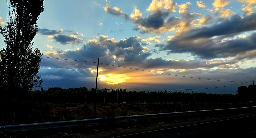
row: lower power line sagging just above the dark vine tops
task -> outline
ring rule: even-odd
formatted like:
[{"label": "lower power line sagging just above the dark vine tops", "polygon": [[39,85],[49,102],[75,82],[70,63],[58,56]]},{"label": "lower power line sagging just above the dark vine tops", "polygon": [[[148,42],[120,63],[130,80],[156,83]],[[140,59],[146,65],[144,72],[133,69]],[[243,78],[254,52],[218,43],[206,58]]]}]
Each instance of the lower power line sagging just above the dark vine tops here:
[{"label": "lower power line sagging just above the dark vine tops", "polygon": [[[250,81],[251,82],[251,81]],[[249,82],[244,82],[244,83],[249,83]],[[126,91],[177,91],[177,90],[202,90],[202,89],[214,89],[214,88],[222,88],[222,87],[229,87],[229,86],[235,86],[235,85],[240,85],[244,83],[239,83],[239,84],[233,84],[233,85],[226,85],[226,86],[219,86],[219,87],[210,87],[210,88],[196,88],[196,89],[171,89],[171,90],[126,90]],[[48,88],[64,88],[68,89],[67,87],[50,87],[50,86],[37,86],[37,87],[48,87]],[[71,87],[70,87],[71,88]],[[74,88],[73,88],[74,89]],[[97,89],[97,90],[112,90],[112,89]],[[113,89],[114,90],[114,89]]]}]

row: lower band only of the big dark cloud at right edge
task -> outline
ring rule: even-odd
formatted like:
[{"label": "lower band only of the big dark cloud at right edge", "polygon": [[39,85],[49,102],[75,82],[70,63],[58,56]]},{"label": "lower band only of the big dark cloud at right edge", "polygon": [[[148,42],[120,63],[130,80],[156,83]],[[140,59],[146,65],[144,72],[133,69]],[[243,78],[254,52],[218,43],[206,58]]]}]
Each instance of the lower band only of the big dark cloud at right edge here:
[{"label": "lower band only of the big dark cloud at right edge", "polygon": [[190,53],[202,59],[227,58],[255,50],[255,35],[256,33],[252,33],[246,38],[233,39],[216,36],[215,38],[173,38],[166,45],[155,45],[155,47],[159,47],[160,51],[167,51],[169,54]]}]

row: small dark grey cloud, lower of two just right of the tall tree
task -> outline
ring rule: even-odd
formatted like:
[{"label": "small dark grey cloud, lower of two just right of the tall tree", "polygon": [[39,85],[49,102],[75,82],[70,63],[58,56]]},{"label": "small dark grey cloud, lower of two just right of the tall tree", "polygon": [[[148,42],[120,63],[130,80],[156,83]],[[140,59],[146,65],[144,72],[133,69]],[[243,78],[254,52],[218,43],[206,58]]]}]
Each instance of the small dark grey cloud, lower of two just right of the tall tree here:
[{"label": "small dark grey cloud, lower of two just right of the tall tree", "polygon": [[57,35],[57,36],[54,36],[53,39],[56,41],[56,42],[59,42],[61,44],[78,44],[78,43],[81,43],[82,40],[79,39],[79,38],[75,38],[75,37],[70,37],[70,36],[67,36],[67,35]]}]

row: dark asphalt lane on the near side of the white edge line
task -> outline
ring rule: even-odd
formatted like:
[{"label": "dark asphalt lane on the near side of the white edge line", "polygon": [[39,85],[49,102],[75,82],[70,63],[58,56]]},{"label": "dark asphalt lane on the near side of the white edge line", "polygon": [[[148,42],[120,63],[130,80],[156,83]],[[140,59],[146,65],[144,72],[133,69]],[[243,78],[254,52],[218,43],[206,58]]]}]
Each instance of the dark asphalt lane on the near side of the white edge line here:
[{"label": "dark asphalt lane on the near side of the white edge line", "polygon": [[256,116],[239,117],[207,123],[165,128],[135,134],[116,136],[116,138],[220,138],[256,137]]}]

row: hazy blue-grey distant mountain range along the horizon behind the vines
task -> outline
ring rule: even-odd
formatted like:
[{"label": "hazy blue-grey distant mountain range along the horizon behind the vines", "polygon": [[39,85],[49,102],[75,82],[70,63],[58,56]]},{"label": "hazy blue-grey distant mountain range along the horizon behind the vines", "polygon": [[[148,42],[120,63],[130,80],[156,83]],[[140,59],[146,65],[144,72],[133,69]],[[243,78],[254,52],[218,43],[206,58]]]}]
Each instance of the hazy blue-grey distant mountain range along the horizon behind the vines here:
[{"label": "hazy blue-grey distant mountain range along the horizon behind the vines", "polygon": [[[79,88],[86,87],[87,89],[95,88],[96,82],[81,82],[77,80],[70,79],[60,79],[60,80],[43,80],[42,87],[47,90],[48,87],[61,87],[61,88]],[[236,94],[237,87],[240,85],[235,85],[231,87],[222,87],[214,89],[200,89],[200,88],[211,88],[216,86],[225,86],[225,84],[212,84],[208,86],[194,85],[194,84],[143,84],[143,83],[131,83],[123,82],[115,85],[98,82],[97,89],[127,89],[127,90],[171,90],[172,92],[206,92],[206,93],[233,93]],[[40,89],[38,87],[37,89]],[[194,89],[194,90],[185,90]]]}]

